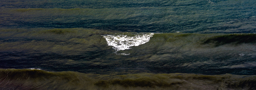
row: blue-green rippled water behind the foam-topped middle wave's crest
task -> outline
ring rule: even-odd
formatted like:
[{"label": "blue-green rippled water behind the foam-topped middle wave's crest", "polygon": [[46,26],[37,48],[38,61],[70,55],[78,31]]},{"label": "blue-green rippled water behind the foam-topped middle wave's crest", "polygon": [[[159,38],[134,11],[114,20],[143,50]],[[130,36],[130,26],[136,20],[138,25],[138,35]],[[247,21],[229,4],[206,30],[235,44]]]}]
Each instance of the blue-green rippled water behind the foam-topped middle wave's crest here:
[{"label": "blue-green rippled water behind the foam-topped middle wave's crest", "polygon": [[[151,33],[255,33],[252,0],[52,0],[40,3],[0,1],[0,26]],[[241,5],[244,7],[238,7]]]}]

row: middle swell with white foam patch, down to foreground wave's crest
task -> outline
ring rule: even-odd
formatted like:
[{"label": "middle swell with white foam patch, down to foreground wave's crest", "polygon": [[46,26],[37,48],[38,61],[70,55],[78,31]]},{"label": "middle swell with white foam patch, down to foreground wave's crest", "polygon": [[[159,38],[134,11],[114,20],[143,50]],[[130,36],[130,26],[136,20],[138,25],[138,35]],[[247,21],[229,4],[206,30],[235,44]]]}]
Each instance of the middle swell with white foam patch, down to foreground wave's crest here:
[{"label": "middle swell with white foam patch, down to foreground wave's crest", "polygon": [[[107,35],[124,38],[125,41],[117,39],[111,43],[122,46],[119,48],[129,44],[128,48],[116,50],[104,38]],[[114,71],[254,75],[256,72],[255,34],[153,35],[84,28],[19,28],[1,29],[0,36],[1,68],[37,67],[46,71],[98,74]]]}]

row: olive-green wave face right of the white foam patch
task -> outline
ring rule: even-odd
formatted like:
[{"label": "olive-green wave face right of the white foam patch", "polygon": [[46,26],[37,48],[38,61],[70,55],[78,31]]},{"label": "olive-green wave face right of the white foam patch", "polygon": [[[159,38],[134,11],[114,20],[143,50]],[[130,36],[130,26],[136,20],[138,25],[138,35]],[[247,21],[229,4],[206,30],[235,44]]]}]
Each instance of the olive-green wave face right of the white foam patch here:
[{"label": "olive-green wave face right of the white foam patch", "polygon": [[208,44],[209,46],[218,47],[225,44],[253,44],[256,42],[256,34],[160,33],[155,34],[154,37],[152,37],[152,40],[179,43],[180,46],[183,44],[193,43],[193,46]]}]

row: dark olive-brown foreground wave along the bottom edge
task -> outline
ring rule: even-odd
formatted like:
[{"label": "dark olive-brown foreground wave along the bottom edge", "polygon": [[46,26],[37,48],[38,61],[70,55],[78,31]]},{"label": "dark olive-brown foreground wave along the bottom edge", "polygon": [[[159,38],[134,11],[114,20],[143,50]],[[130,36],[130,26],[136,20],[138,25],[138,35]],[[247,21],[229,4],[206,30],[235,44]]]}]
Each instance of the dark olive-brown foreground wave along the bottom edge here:
[{"label": "dark olive-brown foreground wave along the bottom edge", "polygon": [[3,90],[255,90],[256,76],[170,74],[85,74],[36,69],[0,69]]}]

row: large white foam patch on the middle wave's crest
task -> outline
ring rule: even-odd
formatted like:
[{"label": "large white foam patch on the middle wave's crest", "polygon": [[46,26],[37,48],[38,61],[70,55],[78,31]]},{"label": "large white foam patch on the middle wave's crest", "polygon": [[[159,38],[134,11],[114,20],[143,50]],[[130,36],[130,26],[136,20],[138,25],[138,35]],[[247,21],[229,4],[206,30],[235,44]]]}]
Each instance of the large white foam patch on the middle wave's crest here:
[{"label": "large white foam patch on the middle wave's crest", "polygon": [[121,34],[121,35],[103,35],[108,42],[108,46],[113,46],[116,51],[131,49],[132,46],[139,46],[149,41],[154,33],[139,33],[139,34]]}]

